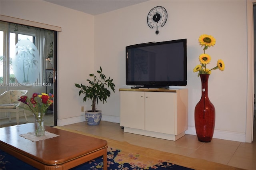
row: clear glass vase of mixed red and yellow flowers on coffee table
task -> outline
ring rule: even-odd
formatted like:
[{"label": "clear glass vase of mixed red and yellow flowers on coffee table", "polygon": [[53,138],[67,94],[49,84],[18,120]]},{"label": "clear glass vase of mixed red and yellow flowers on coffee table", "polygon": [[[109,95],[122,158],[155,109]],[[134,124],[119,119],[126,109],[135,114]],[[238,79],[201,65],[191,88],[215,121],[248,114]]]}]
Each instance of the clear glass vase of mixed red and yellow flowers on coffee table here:
[{"label": "clear glass vase of mixed red and yellow flowers on coffee table", "polygon": [[25,107],[23,108],[31,111],[35,117],[35,135],[44,136],[44,114],[53,103],[53,95],[51,93],[33,93],[30,99],[28,96],[21,96],[18,101],[24,103]]}]

